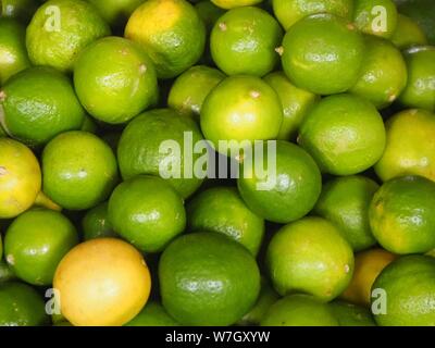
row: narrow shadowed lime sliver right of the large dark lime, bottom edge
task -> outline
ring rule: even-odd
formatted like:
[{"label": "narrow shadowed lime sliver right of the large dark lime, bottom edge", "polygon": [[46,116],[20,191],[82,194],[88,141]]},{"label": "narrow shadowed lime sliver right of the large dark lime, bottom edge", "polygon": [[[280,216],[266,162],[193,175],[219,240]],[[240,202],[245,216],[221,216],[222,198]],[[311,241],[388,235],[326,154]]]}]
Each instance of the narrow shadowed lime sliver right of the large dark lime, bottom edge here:
[{"label": "narrow shadowed lime sliver right of the large dark lime, bottom edge", "polygon": [[238,325],[259,325],[269,309],[279,299],[279,295],[272,288],[269,282],[261,277],[261,290],[257,303],[237,323]]}]

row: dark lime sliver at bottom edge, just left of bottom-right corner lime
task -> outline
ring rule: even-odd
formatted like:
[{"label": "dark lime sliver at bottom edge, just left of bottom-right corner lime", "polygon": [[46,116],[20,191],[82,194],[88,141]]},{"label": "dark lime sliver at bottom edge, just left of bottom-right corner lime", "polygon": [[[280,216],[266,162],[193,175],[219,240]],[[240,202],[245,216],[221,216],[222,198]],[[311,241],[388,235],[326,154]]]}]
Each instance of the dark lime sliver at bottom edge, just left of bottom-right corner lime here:
[{"label": "dark lime sliver at bottom edge, just left of bottom-right corner lime", "polygon": [[365,307],[345,301],[333,301],[330,304],[340,326],[376,326],[373,315]]}]

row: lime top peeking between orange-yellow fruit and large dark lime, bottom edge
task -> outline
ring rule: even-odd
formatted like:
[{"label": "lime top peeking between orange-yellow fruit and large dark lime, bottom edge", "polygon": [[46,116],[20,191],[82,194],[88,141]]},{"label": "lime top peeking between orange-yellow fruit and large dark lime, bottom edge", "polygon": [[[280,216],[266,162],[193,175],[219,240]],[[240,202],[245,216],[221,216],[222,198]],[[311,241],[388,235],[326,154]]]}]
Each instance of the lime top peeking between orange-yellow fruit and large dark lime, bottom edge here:
[{"label": "lime top peeking between orange-yellow fruit and large dark lime, bottom edge", "polygon": [[179,324],[167,314],[162,304],[148,302],[132,321],[124,326],[178,326]]}]

